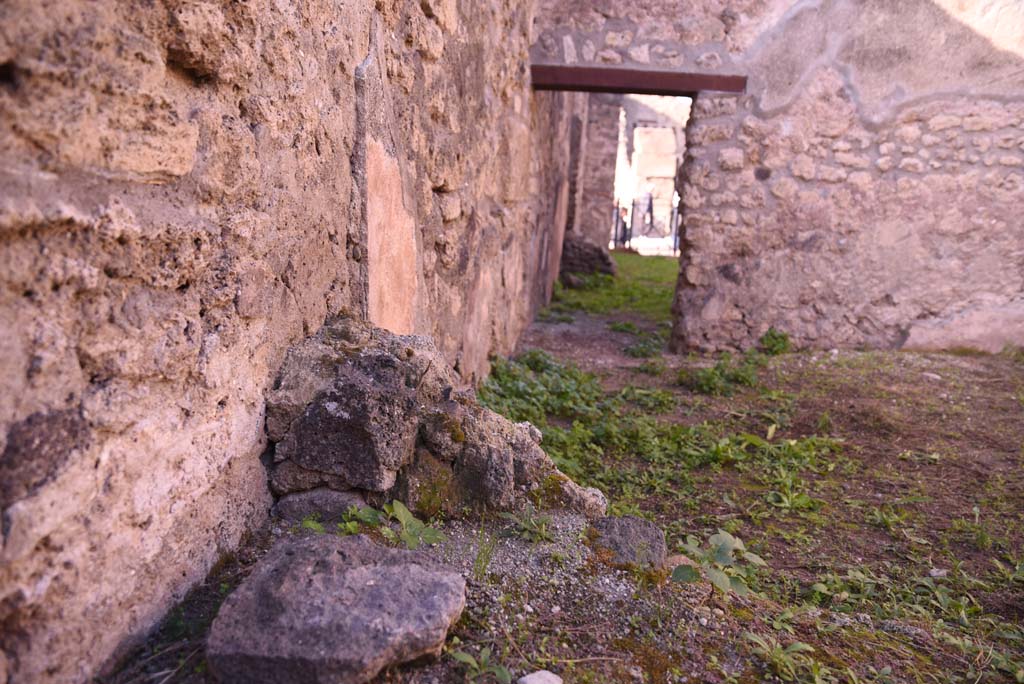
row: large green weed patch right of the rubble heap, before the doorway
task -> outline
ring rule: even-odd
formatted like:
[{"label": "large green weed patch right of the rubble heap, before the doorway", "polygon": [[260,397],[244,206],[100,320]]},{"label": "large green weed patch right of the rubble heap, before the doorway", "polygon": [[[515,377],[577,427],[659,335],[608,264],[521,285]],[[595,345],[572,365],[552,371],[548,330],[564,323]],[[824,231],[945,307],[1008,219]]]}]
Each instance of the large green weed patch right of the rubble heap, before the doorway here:
[{"label": "large green weed patch right of the rubble heap, before the doorway", "polygon": [[671,410],[665,390],[628,388],[605,394],[597,379],[570,364],[530,351],[496,360],[480,387],[480,400],[513,421],[530,421],[542,446],[567,475],[598,486],[614,510],[633,510],[644,497],[676,498],[692,490],[689,471],[731,465],[737,469],[785,467],[826,471],[839,442],[823,437],[772,439],[751,434],[721,436],[714,426],[663,422]]}]

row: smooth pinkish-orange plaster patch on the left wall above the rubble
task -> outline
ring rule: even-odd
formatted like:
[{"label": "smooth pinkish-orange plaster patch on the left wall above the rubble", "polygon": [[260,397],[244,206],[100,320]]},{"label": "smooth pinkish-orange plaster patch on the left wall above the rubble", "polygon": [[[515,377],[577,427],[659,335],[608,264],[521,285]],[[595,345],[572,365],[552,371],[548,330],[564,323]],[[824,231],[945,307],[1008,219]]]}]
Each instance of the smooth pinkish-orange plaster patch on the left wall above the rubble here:
[{"label": "smooth pinkish-orange plaster patch on the left wall above the rubble", "polygon": [[370,320],[408,334],[416,329],[418,284],[416,219],[406,208],[401,170],[384,145],[367,145]]}]

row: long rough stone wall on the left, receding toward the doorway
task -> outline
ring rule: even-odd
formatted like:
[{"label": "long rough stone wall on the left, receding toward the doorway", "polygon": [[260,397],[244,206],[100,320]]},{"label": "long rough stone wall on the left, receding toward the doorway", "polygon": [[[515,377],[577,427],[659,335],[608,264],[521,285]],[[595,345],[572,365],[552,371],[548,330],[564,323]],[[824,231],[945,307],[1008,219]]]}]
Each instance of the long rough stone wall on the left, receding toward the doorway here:
[{"label": "long rough stone wall on the left, receding toward the doorway", "polygon": [[465,378],[511,347],[566,202],[529,11],[0,6],[0,681],[85,681],[263,519],[264,396],[328,315]]}]

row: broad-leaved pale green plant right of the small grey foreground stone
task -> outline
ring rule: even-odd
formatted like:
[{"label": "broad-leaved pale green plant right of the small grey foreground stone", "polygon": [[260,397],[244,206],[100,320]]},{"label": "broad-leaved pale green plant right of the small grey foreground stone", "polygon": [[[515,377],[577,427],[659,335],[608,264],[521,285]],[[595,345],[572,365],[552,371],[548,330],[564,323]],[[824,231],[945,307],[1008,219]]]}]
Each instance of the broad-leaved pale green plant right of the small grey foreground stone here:
[{"label": "broad-leaved pale green plant right of the small grey foreground stone", "polygon": [[[742,540],[724,529],[712,535],[706,547],[701,547],[695,537],[687,537],[683,553],[696,562],[712,585],[725,595],[750,593],[749,582],[756,568],[765,565],[761,556],[746,550]],[[672,579],[674,582],[697,582],[700,572],[692,565],[683,564],[673,570]]]}]

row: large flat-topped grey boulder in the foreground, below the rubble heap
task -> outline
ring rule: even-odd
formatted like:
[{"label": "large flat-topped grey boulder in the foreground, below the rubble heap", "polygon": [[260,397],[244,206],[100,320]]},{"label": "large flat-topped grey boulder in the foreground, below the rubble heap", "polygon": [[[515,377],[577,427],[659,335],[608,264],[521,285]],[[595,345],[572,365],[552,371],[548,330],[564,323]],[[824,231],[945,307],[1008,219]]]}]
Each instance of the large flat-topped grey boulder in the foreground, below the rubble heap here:
[{"label": "large flat-topped grey boulder in the foreground, below the rubble heap", "polygon": [[425,556],[366,537],[287,538],[220,608],[207,661],[225,684],[368,682],[437,655],[466,583]]}]

